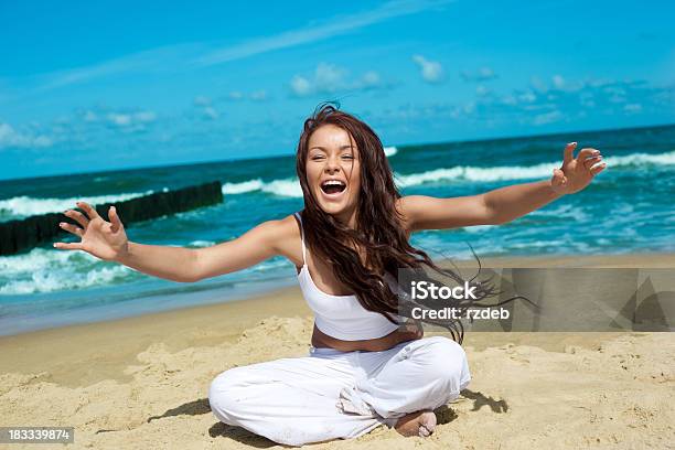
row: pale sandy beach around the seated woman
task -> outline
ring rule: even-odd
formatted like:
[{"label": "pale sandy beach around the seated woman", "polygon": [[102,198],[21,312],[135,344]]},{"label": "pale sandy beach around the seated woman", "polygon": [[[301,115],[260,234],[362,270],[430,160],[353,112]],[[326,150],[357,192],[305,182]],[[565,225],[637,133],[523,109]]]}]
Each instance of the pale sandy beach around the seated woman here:
[{"label": "pale sandy beach around the seated woman", "polygon": [[[675,270],[675,255],[482,262]],[[208,407],[208,385],[234,366],[307,354],[311,328],[299,289],[289,288],[0,338],[0,426],[73,426],[71,448],[274,448],[275,442],[218,422]],[[675,446],[672,333],[470,332],[463,345],[473,379],[456,403],[437,410],[440,425],[430,438],[403,438],[381,427],[356,440],[312,448]],[[11,446],[23,447],[32,446]],[[44,444],[51,447],[62,448]]]}]

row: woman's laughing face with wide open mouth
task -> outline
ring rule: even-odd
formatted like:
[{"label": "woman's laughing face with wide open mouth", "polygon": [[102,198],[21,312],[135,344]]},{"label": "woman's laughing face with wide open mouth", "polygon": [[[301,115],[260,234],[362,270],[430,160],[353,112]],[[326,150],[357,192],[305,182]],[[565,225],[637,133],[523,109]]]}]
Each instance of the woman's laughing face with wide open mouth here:
[{"label": "woman's laughing face with wide open mouth", "polygon": [[358,205],[361,164],[350,133],[334,125],[322,125],[309,139],[307,183],[319,206],[343,223],[352,223]]}]

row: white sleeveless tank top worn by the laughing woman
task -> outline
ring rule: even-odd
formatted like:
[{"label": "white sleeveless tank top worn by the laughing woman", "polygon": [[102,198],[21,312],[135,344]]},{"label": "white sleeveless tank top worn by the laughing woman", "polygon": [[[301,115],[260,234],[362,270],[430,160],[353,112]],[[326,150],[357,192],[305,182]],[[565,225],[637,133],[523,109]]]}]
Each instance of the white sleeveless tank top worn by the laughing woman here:
[{"label": "white sleeveless tank top worn by the laughing woman", "polygon": [[[302,269],[298,274],[298,281],[304,300],[314,312],[317,328],[322,333],[343,341],[377,339],[398,329],[398,325],[388,321],[381,313],[363,308],[356,296],[333,296],[317,287],[307,266],[302,217],[300,217],[300,213],[294,215],[300,223],[302,240]],[[392,289],[399,289],[393,276],[386,274],[385,279]],[[398,319],[400,318],[394,315],[394,320]]]}]

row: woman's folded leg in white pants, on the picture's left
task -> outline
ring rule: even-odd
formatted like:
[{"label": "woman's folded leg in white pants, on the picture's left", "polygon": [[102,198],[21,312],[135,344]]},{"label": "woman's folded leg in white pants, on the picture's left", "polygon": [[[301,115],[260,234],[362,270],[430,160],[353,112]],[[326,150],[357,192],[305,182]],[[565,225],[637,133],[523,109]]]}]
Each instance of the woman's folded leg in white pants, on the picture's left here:
[{"label": "woman's folded leg in white pants, on the picture's left", "polygon": [[225,424],[301,446],[355,438],[383,424],[376,414],[338,409],[340,390],[353,385],[352,355],[281,358],[225,371],[212,382],[208,401]]}]

